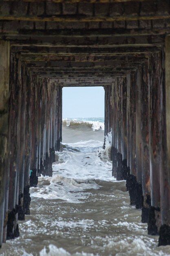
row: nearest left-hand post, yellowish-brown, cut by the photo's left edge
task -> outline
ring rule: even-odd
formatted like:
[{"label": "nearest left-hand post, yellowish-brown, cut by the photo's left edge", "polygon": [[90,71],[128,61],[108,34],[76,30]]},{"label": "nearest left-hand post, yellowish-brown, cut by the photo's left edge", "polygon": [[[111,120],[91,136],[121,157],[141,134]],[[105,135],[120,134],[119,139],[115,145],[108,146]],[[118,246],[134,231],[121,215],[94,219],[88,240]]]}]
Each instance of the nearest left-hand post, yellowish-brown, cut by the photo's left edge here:
[{"label": "nearest left-hand post, yellowish-brown, cut by the photo's left edge", "polygon": [[[10,43],[0,41],[0,247],[2,246],[3,227],[7,225],[8,191],[8,118],[9,118],[9,54]],[[5,211],[5,215],[4,215]],[[5,218],[4,218],[5,217]]]}]

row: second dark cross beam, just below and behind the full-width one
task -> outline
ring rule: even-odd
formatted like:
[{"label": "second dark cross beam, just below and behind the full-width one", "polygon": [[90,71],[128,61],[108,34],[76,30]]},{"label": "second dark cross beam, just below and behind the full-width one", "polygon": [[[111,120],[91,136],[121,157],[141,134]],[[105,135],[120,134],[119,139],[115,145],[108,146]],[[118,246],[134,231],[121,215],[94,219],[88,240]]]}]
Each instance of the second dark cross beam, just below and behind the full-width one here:
[{"label": "second dark cross beam, just below and behind the full-width one", "polygon": [[[111,32],[111,31],[110,31]],[[77,38],[77,36],[76,36]],[[25,43],[24,45],[18,43],[13,43],[11,42],[11,47],[10,50],[11,52],[21,52],[22,55],[26,54],[27,56],[30,55],[58,55],[58,56],[83,56],[87,54],[92,54],[92,55],[102,55],[102,54],[111,54],[112,56],[114,55],[131,55],[133,54],[134,56],[142,56],[142,54],[145,56],[148,56],[151,52],[159,51],[161,48],[160,46],[164,42],[164,35],[150,35],[150,36],[144,36],[143,40],[145,40],[144,45],[141,45],[141,36],[121,36],[119,35],[115,37],[111,36],[111,41],[109,41],[109,45],[105,44],[99,44],[97,42],[97,45],[92,44],[92,45],[60,45],[60,46],[55,46],[53,45],[43,45],[43,44],[29,44],[28,42]],[[68,38],[69,39],[69,38]],[[106,39],[110,40],[110,36],[106,37]],[[97,40],[97,38],[96,38]],[[84,40],[85,41],[85,40]],[[105,41],[104,41],[105,42]],[[104,43],[103,42],[103,43]],[[120,45],[122,42],[123,45]],[[135,44],[133,44],[133,42]],[[147,43],[148,42],[148,43]],[[102,41],[101,41],[102,43]]]}]

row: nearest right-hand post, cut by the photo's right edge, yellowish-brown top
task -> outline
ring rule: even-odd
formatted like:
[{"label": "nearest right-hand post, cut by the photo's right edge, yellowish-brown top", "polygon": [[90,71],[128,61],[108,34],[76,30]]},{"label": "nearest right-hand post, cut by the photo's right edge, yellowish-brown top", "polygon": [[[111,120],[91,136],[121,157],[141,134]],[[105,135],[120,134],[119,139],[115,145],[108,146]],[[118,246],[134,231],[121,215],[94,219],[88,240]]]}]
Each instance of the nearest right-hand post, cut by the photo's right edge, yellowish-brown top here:
[{"label": "nearest right-hand post, cut by the photo's right edge, yellowish-brown top", "polygon": [[161,79],[161,130],[159,245],[170,245],[170,35],[166,36],[165,43],[165,86],[163,76]]}]

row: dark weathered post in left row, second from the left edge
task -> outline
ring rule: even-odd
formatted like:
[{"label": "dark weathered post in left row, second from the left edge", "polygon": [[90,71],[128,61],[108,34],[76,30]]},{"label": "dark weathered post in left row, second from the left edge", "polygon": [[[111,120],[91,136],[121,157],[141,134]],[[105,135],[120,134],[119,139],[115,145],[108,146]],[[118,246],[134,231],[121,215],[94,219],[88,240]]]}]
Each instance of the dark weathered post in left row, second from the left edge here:
[{"label": "dark weathered post in left row, second from the left edge", "polygon": [[9,140],[10,140],[10,173],[7,239],[19,236],[18,230],[18,184],[20,157],[20,56],[11,54],[10,99],[9,99]]}]

